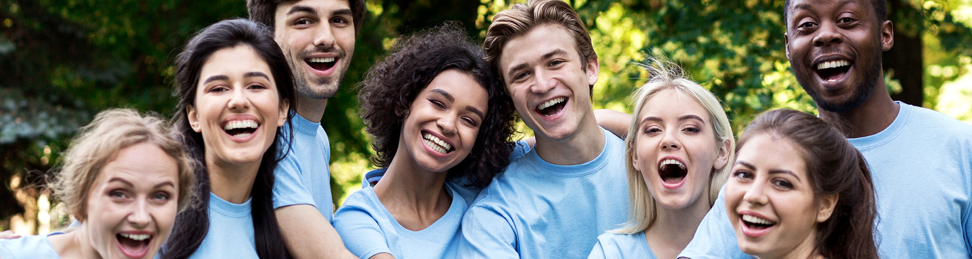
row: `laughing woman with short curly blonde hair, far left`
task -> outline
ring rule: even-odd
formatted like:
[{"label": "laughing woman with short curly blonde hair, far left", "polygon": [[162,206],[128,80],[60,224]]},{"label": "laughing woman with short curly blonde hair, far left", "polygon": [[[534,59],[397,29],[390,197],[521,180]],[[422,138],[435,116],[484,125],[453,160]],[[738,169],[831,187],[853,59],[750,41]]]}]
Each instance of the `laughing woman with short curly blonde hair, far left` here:
[{"label": "laughing woman with short curly blonde hair, far left", "polygon": [[153,258],[191,200],[191,160],[155,116],[114,109],[81,128],[52,189],[77,229],[0,240],[0,258]]}]

